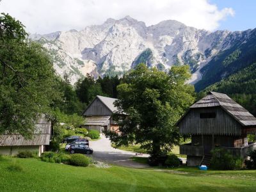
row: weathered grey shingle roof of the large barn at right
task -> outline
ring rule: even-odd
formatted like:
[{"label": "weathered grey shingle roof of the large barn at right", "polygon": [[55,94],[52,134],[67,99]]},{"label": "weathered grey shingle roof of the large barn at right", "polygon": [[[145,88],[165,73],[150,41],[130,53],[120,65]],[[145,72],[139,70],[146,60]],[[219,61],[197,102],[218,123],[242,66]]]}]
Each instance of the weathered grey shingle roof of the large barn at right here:
[{"label": "weathered grey shingle roof of the large barn at right", "polygon": [[215,106],[220,106],[243,126],[256,125],[256,118],[251,113],[223,93],[209,92],[208,95],[198,100],[190,108],[211,108]]}]

